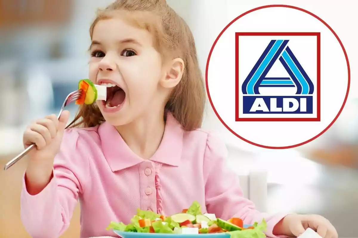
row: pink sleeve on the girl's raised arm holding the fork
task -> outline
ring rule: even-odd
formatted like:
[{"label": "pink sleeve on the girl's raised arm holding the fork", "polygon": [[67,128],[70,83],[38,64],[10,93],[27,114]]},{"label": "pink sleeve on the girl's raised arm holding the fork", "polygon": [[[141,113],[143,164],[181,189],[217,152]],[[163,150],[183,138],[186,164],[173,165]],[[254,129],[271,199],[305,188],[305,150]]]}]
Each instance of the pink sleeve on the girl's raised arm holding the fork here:
[{"label": "pink sleeve on the girl's raised arm holding the fork", "polygon": [[[49,184],[32,196],[26,190],[25,175],[21,191],[21,220],[34,238],[57,238],[68,228],[79,194],[83,193],[88,161],[81,150],[78,132],[64,133],[60,152],[54,160]],[[82,156],[79,156],[82,155]]]}]

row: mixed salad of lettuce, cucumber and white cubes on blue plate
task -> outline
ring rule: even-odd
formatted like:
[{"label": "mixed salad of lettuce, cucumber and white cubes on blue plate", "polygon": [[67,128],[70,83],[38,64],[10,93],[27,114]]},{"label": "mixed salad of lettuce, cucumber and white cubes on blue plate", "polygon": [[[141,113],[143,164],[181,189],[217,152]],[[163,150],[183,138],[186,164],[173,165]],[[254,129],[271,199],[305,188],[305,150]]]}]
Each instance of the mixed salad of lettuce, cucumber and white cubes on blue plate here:
[{"label": "mixed salad of lettuce, cucumber and white cubes on blue plate", "polygon": [[152,211],[138,209],[137,214],[129,224],[111,222],[107,230],[141,233],[171,233],[171,234],[210,234],[227,232],[231,238],[265,238],[263,233],[266,222],[255,222],[244,228],[240,218],[233,217],[228,221],[216,218],[215,214],[202,214],[200,204],[194,201],[188,209],[181,213],[165,217]]}]

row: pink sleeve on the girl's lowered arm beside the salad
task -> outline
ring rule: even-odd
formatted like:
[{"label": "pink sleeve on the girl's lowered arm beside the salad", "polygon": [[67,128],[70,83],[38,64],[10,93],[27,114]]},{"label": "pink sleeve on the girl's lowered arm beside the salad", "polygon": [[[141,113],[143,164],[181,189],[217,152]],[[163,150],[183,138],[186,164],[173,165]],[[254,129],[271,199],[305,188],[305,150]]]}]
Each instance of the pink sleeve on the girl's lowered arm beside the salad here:
[{"label": "pink sleeve on the girl's lowered arm beside the salad", "polygon": [[[274,237],[274,226],[287,214],[270,215],[255,209],[255,204],[243,197],[239,178],[226,164],[227,148],[212,135],[208,136],[204,157],[205,200],[209,213],[222,219],[240,217],[245,224],[267,222],[266,236]],[[234,168],[240,169],[240,168]]]}]

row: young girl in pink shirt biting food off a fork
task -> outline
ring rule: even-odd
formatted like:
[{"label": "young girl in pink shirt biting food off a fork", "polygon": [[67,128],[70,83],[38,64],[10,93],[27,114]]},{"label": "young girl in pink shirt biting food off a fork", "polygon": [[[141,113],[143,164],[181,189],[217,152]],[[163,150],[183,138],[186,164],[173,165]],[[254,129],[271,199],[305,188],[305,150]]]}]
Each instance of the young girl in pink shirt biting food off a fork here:
[{"label": "young girl in pink shirt biting food off a fork", "polygon": [[108,87],[107,101],[82,106],[67,130],[65,111],[24,133],[25,147],[37,145],[21,194],[32,237],[59,237],[78,200],[81,237],[115,236],[108,224],[129,223],[138,208],[171,215],[193,201],[223,219],[265,218],[269,237],[308,227],[337,237],[323,217],[271,216],[242,197],[224,144],[199,129],[205,91],[194,39],[164,0],[117,0],[98,13],[90,36],[89,79]]}]

